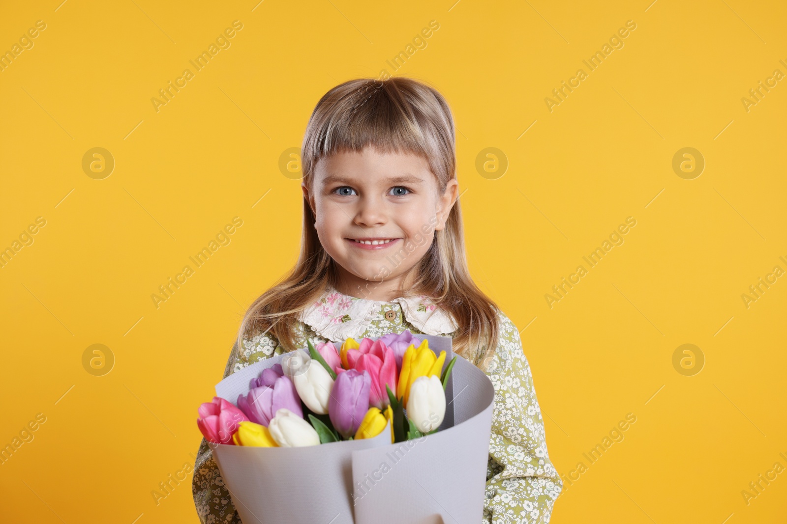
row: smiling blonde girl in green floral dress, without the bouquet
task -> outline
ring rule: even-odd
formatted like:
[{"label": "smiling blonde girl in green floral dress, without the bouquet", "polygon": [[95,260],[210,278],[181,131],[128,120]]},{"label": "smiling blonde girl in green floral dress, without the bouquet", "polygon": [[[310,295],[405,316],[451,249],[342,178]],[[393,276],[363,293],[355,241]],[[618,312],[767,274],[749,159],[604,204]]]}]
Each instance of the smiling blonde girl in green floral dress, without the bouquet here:
[{"label": "smiling blonde girl in green floral dress, without the bouquet", "polygon": [[[433,88],[357,79],[318,102],[303,143],[297,264],[246,312],[224,376],[306,346],[405,330],[453,337],[495,398],[482,522],[549,522],[563,484],[512,321],[467,270],[453,117]],[[405,335],[406,336],[406,335]],[[203,439],[201,522],[241,522]]]}]

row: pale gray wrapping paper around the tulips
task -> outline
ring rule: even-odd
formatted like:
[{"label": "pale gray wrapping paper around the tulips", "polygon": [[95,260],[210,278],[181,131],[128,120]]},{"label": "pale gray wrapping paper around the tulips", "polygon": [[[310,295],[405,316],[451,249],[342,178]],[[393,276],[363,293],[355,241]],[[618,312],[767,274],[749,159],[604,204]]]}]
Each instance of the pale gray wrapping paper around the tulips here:
[{"label": "pale gray wrapping paper around the tulips", "polygon": [[[429,339],[452,357],[451,339]],[[256,362],[216,385],[235,404],[249,381],[284,355]],[[444,368],[445,368],[444,365]],[[440,430],[390,443],[375,438],[305,448],[212,444],[213,456],[244,524],[430,524],[481,520],[494,388],[470,362],[456,359]]]}]

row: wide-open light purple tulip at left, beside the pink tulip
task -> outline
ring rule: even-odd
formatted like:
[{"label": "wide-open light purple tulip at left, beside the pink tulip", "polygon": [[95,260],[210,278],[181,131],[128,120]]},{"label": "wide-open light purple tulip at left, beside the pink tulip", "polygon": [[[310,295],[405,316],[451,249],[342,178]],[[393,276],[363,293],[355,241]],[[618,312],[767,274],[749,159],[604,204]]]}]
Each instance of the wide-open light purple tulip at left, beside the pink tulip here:
[{"label": "wide-open light purple tulip at left, beside the pink tulip", "polygon": [[298,397],[295,385],[284,375],[282,366],[277,364],[264,369],[256,379],[249,383],[249,394],[238,395],[238,408],[252,422],[268,426],[280,408],[289,409],[303,418],[301,398]]}]

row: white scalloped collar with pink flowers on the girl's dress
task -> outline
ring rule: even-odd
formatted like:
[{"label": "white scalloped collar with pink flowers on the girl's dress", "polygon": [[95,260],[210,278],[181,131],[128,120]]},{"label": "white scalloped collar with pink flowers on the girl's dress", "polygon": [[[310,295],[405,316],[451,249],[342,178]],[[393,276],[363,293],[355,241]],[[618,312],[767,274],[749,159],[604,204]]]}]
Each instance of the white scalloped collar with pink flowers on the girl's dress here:
[{"label": "white scalloped collar with pink flowers on the girl's dress", "polygon": [[373,321],[385,321],[385,313],[396,305],[405,320],[427,335],[450,335],[458,328],[453,317],[438,308],[430,297],[400,297],[390,302],[343,295],[329,286],[322,297],[301,313],[301,322],[332,342],[360,338]]}]

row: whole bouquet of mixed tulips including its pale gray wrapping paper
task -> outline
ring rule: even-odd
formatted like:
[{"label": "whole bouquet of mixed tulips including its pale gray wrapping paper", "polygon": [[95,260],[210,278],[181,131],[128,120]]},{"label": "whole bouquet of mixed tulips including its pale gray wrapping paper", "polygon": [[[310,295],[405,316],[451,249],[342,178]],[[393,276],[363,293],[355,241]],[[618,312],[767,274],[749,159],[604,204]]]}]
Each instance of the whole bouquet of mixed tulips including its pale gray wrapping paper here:
[{"label": "whole bouquet of mixed tulips including its pale gray wrapping paper", "polygon": [[489,378],[448,337],[307,345],[228,376],[198,410],[244,524],[478,522]]}]

